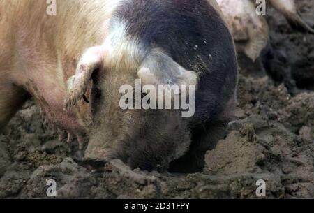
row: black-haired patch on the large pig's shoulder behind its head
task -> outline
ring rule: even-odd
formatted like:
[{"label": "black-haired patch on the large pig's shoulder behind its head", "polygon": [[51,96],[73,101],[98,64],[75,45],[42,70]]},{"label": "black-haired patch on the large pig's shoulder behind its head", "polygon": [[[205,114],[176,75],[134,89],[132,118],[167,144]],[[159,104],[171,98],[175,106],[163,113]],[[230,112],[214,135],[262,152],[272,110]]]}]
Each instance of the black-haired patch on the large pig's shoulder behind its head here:
[{"label": "black-haired patch on the large pig's shoulder behind its head", "polygon": [[160,47],[198,73],[195,115],[188,118],[191,132],[215,124],[234,96],[237,59],[230,31],[209,2],[130,0],[119,6],[114,18],[126,22],[128,36],[138,38],[148,50]]}]

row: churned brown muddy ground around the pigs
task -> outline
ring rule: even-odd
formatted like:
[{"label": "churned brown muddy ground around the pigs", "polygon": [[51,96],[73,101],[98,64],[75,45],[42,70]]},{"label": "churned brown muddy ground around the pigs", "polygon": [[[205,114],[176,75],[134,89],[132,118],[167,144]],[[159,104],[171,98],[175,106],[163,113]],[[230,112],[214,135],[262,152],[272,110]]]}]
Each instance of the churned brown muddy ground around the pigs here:
[{"label": "churned brown muddy ground around the pigs", "polygon": [[[314,1],[297,1],[314,27]],[[265,73],[240,63],[237,119],[204,159],[204,171],[158,174],[113,162],[96,170],[77,161],[66,141],[27,103],[0,135],[0,198],[314,198],[314,36],[291,29],[268,10],[271,49]]]}]

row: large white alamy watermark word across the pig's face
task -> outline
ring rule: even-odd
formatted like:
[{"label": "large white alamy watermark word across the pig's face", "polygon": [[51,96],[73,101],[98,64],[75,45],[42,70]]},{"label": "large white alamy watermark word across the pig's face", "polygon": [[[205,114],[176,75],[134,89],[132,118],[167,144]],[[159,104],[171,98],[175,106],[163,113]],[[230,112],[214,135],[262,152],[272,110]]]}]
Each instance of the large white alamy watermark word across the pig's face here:
[{"label": "large white alamy watermark word across the pig's face", "polygon": [[119,90],[122,110],[182,110],[182,117],[195,114],[195,85],[122,85]]}]

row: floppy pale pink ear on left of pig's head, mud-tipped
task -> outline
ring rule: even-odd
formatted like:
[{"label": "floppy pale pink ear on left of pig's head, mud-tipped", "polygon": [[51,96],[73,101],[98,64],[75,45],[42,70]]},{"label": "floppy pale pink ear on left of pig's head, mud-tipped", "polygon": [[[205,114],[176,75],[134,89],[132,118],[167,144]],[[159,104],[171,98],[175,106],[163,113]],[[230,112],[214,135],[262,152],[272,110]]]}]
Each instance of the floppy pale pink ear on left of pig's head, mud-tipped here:
[{"label": "floppy pale pink ear on left of pig's head, mud-tipped", "polygon": [[102,50],[102,47],[91,47],[82,55],[75,75],[70,77],[67,82],[68,89],[64,103],[66,110],[76,105],[86,93],[91,75],[103,62]]}]

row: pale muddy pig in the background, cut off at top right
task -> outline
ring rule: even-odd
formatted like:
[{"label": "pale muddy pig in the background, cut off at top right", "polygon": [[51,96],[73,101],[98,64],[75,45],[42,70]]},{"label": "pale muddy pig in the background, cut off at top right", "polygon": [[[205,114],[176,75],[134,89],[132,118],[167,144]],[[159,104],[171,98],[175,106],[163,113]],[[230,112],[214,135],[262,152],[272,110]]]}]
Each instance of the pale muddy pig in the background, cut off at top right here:
[{"label": "pale muddy pig in the background, cut off at top right", "polygon": [[[237,52],[245,54],[253,62],[259,59],[262,50],[269,43],[267,21],[264,15],[257,14],[255,2],[255,0],[217,0],[234,36]],[[314,33],[314,29],[302,20],[297,12],[294,0],[267,0],[265,2],[267,7],[271,5],[283,13],[292,27]]]}]

